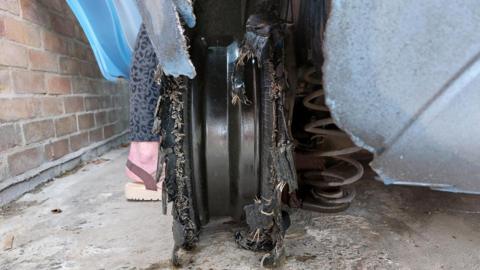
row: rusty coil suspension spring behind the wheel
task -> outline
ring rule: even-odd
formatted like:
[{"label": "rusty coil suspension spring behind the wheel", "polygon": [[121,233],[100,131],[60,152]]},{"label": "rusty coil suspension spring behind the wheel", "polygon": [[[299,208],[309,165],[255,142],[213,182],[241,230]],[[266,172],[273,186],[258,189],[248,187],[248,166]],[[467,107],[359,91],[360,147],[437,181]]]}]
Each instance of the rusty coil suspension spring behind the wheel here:
[{"label": "rusty coil suspension spring behind the wheel", "polygon": [[355,197],[355,189],[351,184],[363,176],[363,165],[350,157],[361,148],[355,146],[348,135],[335,126],[330,110],[325,105],[322,82],[315,75],[315,69],[311,68],[303,78],[307,87],[313,90],[303,98],[303,105],[314,115],[313,120],[304,126],[304,131],[311,134],[310,140],[314,141],[314,148],[309,149],[310,155],[323,158],[325,167],[301,174],[303,182],[310,187],[303,208],[338,212],[350,206]]}]

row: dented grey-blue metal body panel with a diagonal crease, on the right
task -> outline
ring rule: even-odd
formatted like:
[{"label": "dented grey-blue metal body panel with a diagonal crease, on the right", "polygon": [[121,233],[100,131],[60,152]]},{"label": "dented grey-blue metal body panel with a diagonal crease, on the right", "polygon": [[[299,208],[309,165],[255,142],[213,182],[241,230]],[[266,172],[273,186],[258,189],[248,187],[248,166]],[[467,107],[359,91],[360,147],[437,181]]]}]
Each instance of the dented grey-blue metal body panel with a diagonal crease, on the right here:
[{"label": "dented grey-blue metal body panel with a diagonal crease, on the right", "polygon": [[480,193],[480,2],[333,1],[327,104],[387,184]]}]

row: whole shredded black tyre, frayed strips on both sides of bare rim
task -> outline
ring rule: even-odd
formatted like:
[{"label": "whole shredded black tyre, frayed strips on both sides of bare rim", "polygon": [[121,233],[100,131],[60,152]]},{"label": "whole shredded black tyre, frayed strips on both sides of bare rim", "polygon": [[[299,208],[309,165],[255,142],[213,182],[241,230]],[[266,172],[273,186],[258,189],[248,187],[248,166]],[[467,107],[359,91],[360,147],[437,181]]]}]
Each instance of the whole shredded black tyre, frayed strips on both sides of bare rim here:
[{"label": "whole shredded black tyre, frayed strips on both sides of bare rim", "polygon": [[[284,258],[284,237],[290,226],[288,206],[282,202],[282,193],[297,189],[296,172],[293,163],[293,143],[288,132],[284,110],[285,92],[288,90],[284,71],[284,24],[268,15],[251,16],[241,55],[236,63],[236,75],[243,73],[243,66],[253,64],[262,74],[262,106],[264,111],[263,130],[268,138],[263,141],[265,169],[262,173],[261,196],[245,206],[248,231],[235,234],[235,240],[242,248],[268,252],[262,258],[262,266],[275,267]],[[240,78],[240,79],[239,79]],[[242,76],[232,77],[232,80]],[[172,215],[175,246],[172,263],[179,264],[180,248],[190,250],[198,241],[199,227],[195,222],[195,207],[188,168],[187,142],[185,140],[184,113],[188,78],[174,78],[156,74],[161,85],[161,97],[155,111],[154,132],[162,135],[160,166],[166,166],[163,189],[163,211],[167,201],[173,202]],[[242,84],[234,84],[239,85]],[[241,88],[232,89],[232,102],[249,104]],[[159,168],[161,168],[159,166]],[[158,176],[157,176],[158,177]]]}]

